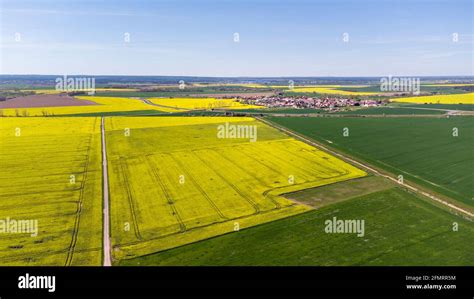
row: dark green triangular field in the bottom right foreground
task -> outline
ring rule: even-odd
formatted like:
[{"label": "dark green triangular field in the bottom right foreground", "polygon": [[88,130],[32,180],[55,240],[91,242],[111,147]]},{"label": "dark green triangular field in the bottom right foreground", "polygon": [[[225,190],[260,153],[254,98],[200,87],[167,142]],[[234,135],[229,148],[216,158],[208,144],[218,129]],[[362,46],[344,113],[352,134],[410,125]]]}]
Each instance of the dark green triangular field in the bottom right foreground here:
[{"label": "dark green triangular field in the bottom right foreground", "polygon": [[[300,198],[301,200],[301,198]],[[365,219],[366,234],[327,234],[325,220]],[[453,222],[459,224],[452,231]],[[271,236],[271,237],[269,237]],[[160,266],[473,265],[474,224],[398,187],[237,233],[123,260]]]}]

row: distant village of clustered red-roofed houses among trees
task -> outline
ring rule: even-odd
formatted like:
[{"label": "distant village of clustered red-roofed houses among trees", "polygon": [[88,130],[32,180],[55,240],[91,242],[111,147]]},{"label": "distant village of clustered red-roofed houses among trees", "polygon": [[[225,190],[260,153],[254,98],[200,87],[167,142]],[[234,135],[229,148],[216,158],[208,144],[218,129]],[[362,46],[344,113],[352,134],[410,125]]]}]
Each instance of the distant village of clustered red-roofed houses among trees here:
[{"label": "distant village of clustered red-roofed houses among trees", "polygon": [[239,101],[246,104],[265,106],[267,108],[313,108],[338,109],[344,107],[361,106],[376,107],[384,105],[381,100],[354,100],[341,97],[282,97],[282,96],[240,96]]}]

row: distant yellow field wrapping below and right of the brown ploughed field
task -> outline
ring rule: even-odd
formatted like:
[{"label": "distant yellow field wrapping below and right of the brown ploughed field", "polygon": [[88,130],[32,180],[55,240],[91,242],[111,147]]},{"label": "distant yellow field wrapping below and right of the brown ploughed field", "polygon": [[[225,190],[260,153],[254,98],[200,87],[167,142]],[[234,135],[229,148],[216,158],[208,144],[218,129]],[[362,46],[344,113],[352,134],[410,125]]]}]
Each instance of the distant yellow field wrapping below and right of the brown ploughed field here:
[{"label": "distant yellow field wrapping below and right of the brown ploughed field", "polygon": [[140,99],[117,98],[117,97],[94,97],[94,96],[78,96],[78,100],[87,100],[96,102],[98,105],[88,106],[64,106],[64,107],[38,107],[38,108],[9,108],[0,109],[0,114],[5,116],[15,116],[17,111],[20,115],[26,111],[28,116],[44,116],[44,115],[67,115],[78,113],[100,113],[100,112],[124,112],[137,110],[156,110],[162,112],[177,112],[174,108],[157,107],[146,104]]}]

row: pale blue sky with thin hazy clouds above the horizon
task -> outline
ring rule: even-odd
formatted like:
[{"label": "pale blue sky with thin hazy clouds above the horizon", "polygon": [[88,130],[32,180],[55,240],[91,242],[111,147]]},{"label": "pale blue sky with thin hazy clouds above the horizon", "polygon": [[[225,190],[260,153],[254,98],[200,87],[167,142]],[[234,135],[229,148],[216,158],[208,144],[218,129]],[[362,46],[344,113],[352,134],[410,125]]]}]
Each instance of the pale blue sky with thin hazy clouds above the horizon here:
[{"label": "pale blue sky with thin hazy clouds above the horizon", "polygon": [[0,70],[54,75],[472,75],[472,3],[1,0]]}]

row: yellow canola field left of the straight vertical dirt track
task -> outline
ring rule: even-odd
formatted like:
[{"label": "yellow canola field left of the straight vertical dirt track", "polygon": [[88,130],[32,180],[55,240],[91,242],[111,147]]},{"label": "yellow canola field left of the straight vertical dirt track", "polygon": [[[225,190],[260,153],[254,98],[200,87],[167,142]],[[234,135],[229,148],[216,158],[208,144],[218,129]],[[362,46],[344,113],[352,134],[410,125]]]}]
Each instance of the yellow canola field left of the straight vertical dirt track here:
[{"label": "yellow canola field left of the straight vertical dirt track", "polygon": [[0,118],[0,266],[101,264],[99,129],[91,117]]}]

